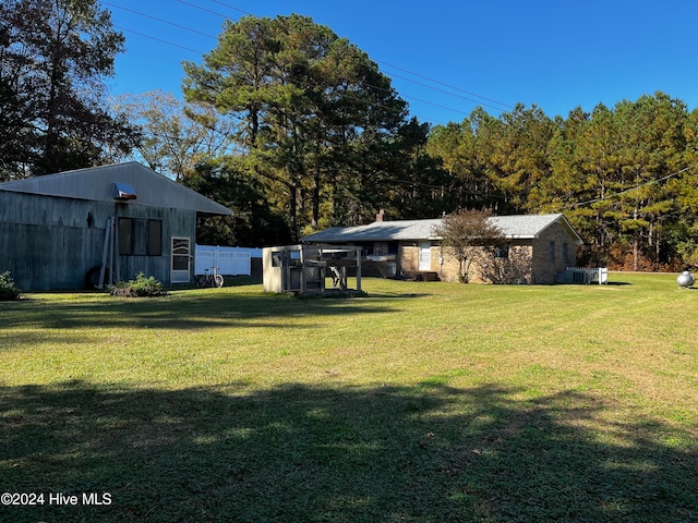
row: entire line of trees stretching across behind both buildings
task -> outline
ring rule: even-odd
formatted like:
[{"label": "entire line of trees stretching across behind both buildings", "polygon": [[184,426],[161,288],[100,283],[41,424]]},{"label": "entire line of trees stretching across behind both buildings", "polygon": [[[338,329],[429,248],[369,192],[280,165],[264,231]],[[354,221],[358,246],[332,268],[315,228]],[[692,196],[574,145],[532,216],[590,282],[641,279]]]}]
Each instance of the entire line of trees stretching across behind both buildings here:
[{"label": "entire line of trees stretching across behind both buildings", "polygon": [[698,263],[698,112],[666,94],[432,127],[365,52],[294,14],[227,22],[181,98],[108,102],[123,48],[96,0],[0,5],[0,181],[136,158],[233,210],[202,242],[286,243],[381,209],[564,212],[582,263]]}]

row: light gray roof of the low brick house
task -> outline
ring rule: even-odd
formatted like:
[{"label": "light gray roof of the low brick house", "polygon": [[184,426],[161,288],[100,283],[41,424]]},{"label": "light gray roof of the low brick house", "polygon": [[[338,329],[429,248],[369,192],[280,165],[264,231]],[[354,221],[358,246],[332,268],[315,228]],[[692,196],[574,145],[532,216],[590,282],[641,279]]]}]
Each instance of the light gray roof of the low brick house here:
[{"label": "light gray roof of the low brick house", "polygon": [[[509,240],[534,239],[554,223],[562,223],[581,245],[581,238],[567,219],[561,215],[514,215],[489,218]],[[385,242],[396,240],[438,240],[434,229],[443,222],[441,218],[429,220],[375,221],[368,226],[333,227],[301,238],[304,243]]]}]

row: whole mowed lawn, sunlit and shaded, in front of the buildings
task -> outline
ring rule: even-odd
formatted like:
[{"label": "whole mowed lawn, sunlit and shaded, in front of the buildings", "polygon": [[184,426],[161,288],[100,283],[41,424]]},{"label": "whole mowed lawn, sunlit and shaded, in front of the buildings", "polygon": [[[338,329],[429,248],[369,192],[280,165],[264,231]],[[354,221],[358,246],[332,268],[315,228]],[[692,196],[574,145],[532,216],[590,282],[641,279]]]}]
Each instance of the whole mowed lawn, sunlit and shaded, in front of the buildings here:
[{"label": "whole mowed lawn, sunlit and shaded, in front of the buildings", "polygon": [[698,290],[611,282],[0,303],[0,491],[45,495],[0,521],[698,521]]}]

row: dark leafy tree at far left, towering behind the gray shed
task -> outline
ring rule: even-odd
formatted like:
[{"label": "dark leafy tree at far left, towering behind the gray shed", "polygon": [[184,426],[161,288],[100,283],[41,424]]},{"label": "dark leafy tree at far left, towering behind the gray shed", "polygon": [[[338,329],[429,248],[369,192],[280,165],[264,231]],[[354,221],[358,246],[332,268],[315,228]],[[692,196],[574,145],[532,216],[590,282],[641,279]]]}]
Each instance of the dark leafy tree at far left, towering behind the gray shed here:
[{"label": "dark leafy tree at far left, towering behind the gray shed", "polygon": [[0,177],[88,167],[129,147],[131,129],[105,104],[123,41],[96,0],[2,3],[0,118],[11,146],[0,149]]}]

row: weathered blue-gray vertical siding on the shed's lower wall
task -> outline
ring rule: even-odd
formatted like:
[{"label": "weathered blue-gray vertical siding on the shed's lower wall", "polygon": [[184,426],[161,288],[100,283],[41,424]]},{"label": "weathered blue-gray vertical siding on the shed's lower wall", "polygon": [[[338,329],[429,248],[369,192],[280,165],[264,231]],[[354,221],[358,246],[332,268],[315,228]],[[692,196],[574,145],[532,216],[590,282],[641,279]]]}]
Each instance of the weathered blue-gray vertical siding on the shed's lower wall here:
[{"label": "weathered blue-gray vertical siding on the shed's lower wall", "polygon": [[[169,284],[172,236],[189,238],[193,255],[192,210],[0,191],[0,272],[10,270],[25,291],[83,289],[115,216],[136,220],[133,255],[119,257],[121,279],[142,271]],[[163,221],[160,256],[147,255],[148,219]]]}]

